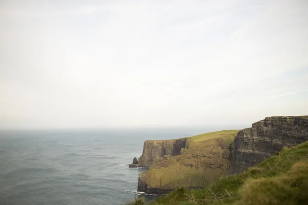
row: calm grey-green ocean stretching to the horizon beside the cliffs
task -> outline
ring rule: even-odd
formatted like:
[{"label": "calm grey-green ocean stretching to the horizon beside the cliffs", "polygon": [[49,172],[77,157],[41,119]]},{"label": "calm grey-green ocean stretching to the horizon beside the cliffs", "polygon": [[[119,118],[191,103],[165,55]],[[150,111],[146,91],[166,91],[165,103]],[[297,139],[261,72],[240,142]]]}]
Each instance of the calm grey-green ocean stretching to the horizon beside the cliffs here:
[{"label": "calm grey-green ocean stretching to the horizon beside the cliffs", "polygon": [[213,130],[0,131],[0,204],[124,204],[134,199],[144,171],[128,168],[141,156],[144,140],[207,131]]}]

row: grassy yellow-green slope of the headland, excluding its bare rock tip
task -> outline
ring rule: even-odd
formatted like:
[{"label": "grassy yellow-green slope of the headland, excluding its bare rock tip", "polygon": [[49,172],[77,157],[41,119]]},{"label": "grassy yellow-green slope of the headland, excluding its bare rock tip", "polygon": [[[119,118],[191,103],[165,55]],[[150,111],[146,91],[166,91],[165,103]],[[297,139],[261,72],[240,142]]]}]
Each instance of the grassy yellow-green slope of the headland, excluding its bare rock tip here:
[{"label": "grassy yellow-green slope of the headland, excluding its bare rock tip", "polygon": [[164,156],[153,162],[145,176],[147,184],[159,189],[203,187],[203,182],[209,185],[226,170],[228,147],[238,131],[224,130],[188,137],[188,148],[182,149],[181,155]]}]

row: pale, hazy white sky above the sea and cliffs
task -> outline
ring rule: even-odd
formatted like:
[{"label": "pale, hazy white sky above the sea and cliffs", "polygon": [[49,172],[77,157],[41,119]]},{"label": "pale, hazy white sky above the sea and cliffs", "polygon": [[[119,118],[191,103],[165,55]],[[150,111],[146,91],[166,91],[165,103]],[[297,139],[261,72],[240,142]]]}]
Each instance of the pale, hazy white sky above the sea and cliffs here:
[{"label": "pale, hazy white sky above the sea and cliffs", "polygon": [[0,0],[0,129],[308,115],[308,1]]}]

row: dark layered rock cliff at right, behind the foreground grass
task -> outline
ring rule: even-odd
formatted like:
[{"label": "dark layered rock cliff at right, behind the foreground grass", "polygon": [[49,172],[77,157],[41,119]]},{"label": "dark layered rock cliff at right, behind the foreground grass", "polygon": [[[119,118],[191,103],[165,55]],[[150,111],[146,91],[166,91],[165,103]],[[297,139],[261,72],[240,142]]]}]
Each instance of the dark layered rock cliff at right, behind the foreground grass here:
[{"label": "dark layered rock cliff at right, behind the foreground grass", "polygon": [[308,116],[266,117],[255,122],[252,128],[238,132],[230,154],[230,173],[241,173],[273,155],[275,151],[307,140]]}]

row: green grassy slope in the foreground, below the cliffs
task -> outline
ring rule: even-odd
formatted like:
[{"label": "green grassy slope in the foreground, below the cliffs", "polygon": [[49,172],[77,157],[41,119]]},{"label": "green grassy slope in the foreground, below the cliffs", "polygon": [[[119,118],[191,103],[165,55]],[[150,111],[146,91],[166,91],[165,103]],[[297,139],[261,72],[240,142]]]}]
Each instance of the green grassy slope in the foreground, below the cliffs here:
[{"label": "green grassy slope in the foreground, below the cliffs", "polygon": [[284,148],[243,174],[222,177],[204,190],[181,188],[151,202],[158,204],[308,204],[308,141]]}]

